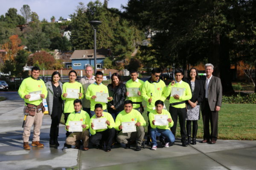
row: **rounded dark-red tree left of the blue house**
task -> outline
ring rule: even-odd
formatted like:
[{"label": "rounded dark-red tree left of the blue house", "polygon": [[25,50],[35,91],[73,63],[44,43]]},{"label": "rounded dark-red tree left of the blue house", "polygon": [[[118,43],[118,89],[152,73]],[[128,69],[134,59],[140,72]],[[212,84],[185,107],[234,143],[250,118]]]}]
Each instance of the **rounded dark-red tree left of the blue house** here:
[{"label": "rounded dark-red tree left of the blue house", "polygon": [[39,51],[29,56],[28,64],[37,65],[40,69],[52,69],[55,59],[46,51]]}]

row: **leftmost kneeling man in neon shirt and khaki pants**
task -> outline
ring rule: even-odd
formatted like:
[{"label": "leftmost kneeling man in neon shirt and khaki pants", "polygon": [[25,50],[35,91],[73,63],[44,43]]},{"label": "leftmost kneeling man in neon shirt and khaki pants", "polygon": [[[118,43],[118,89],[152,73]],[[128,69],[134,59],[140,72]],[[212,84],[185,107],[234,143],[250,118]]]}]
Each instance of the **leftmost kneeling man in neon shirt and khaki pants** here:
[{"label": "leftmost kneeling man in neon shirt and khaki pants", "polygon": [[70,121],[82,121],[82,132],[71,133],[67,139],[66,144],[75,145],[76,149],[80,148],[81,140],[84,141],[83,149],[88,150],[89,144],[89,122],[90,116],[86,111],[81,110],[82,102],[80,99],[74,100],[74,109],[72,113],[67,117],[66,130],[70,128]]}]

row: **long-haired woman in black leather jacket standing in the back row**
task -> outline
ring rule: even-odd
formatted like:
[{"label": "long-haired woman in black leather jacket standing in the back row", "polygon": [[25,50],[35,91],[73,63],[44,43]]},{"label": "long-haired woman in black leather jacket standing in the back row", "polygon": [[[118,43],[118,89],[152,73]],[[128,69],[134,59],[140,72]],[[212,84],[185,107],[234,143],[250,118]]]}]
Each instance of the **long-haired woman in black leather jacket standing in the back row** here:
[{"label": "long-haired woman in black leather jacket standing in the back row", "polygon": [[120,75],[118,73],[112,74],[111,82],[108,85],[108,94],[110,97],[113,97],[113,100],[108,102],[108,113],[111,113],[113,119],[116,120],[118,113],[124,110],[126,87],[120,82]]}]

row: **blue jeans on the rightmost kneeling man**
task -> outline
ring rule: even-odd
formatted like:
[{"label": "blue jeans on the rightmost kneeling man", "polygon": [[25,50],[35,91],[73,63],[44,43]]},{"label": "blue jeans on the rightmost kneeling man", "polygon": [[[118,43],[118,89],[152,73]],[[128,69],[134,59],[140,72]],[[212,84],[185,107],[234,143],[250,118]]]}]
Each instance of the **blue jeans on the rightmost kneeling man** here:
[{"label": "blue jeans on the rightmost kneeling man", "polygon": [[169,129],[150,129],[150,137],[152,140],[152,144],[153,145],[157,145],[157,136],[160,136],[161,134],[163,134],[163,136],[166,137],[166,142],[175,142],[175,137],[172,134],[172,131]]}]

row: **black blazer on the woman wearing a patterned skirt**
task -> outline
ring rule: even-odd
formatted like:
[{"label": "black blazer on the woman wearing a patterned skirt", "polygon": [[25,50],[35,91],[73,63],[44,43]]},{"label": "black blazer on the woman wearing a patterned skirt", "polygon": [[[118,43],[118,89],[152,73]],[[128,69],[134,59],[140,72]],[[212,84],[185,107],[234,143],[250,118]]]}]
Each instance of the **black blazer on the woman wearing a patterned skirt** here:
[{"label": "black blazer on the woman wearing a patterned skirt", "polygon": [[[189,79],[186,79],[185,82],[189,84],[190,89],[191,88],[191,82]],[[195,89],[194,89],[194,95],[192,95],[192,98],[190,99],[191,102],[198,101],[198,105],[203,101],[204,99],[204,86],[203,82],[199,79],[195,79]],[[189,105],[189,102],[186,101],[186,104]]]}]

